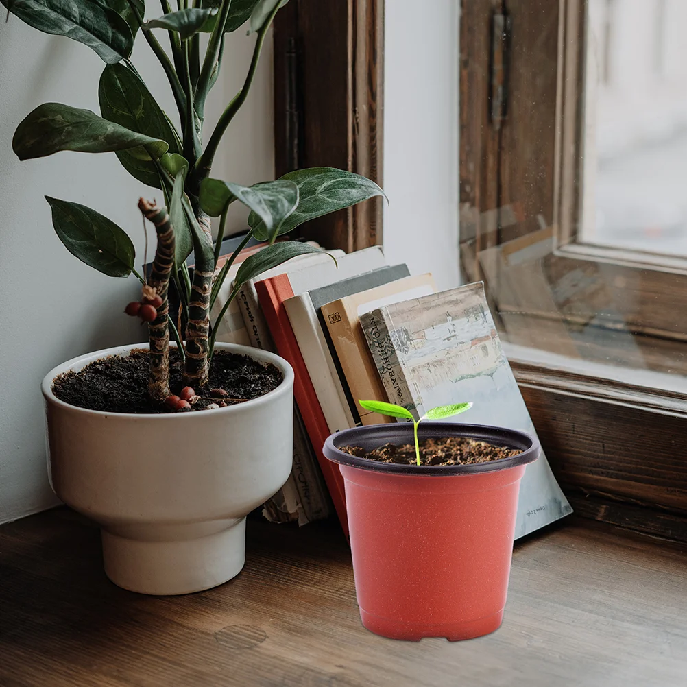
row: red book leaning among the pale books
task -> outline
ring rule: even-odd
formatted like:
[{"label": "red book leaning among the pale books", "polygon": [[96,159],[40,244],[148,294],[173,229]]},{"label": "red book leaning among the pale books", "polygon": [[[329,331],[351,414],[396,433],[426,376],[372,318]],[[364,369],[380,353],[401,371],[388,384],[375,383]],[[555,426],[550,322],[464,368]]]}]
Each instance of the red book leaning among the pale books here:
[{"label": "red book leaning among the pale books", "polygon": [[284,301],[293,297],[293,289],[289,282],[289,275],[280,274],[262,282],[256,282],[256,291],[260,300],[260,308],[267,321],[272,338],[280,356],[293,368],[293,395],[300,409],[306,431],[313,443],[313,450],[322,469],[324,481],[337,510],[343,533],[348,539],[348,517],[346,516],[346,495],[343,489],[343,477],[339,466],[329,462],[322,453],[322,447],[329,436],[329,428],[322,408],[317,400],[310,375],[293,335],[289,315],[284,308]]}]

